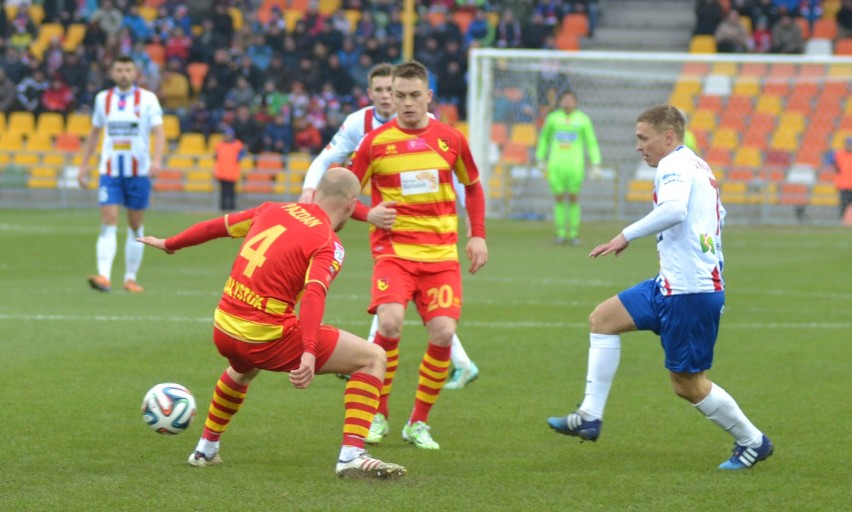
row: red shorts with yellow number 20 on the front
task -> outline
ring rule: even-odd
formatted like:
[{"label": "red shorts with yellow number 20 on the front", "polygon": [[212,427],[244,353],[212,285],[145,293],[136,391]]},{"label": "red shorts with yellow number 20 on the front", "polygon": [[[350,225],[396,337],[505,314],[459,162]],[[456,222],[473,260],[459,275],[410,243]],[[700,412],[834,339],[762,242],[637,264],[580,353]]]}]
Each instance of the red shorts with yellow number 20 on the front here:
[{"label": "red shorts with yellow number 20 on the front", "polygon": [[373,267],[370,313],[382,304],[413,300],[423,323],[436,316],[461,316],[461,270],[457,261],[424,263],[380,258]]}]

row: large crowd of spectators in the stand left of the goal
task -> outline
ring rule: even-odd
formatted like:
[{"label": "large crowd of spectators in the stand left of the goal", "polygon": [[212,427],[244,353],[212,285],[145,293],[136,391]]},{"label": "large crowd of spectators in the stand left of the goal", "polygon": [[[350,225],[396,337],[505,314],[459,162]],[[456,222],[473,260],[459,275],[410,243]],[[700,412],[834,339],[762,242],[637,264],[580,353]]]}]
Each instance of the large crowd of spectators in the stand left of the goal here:
[{"label": "large crowd of spectators in the stand left of the goal", "polygon": [[[26,1],[11,19],[0,9],[0,108],[89,112],[111,85],[109,64],[127,54],[139,85],[157,92],[183,131],[227,127],[251,152],[316,152],[346,115],[369,104],[368,70],[402,60],[400,2],[342,0],[339,12],[323,15],[311,1],[292,29],[280,8],[263,11],[260,0],[157,3],[149,20],[133,0],[44,0],[42,24],[85,24],[86,32],[76,49],[63,50],[57,38],[40,58],[30,52],[39,26]],[[436,103],[454,105],[463,119],[471,48],[553,48],[566,14],[586,12],[593,26],[597,0],[418,0],[416,9],[414,58],[433,72]],[[354,28],[346,10],[361,13]],[[470,13],[466,28],[456,11]],[[208,71],[194,84],[198,63]]]}]

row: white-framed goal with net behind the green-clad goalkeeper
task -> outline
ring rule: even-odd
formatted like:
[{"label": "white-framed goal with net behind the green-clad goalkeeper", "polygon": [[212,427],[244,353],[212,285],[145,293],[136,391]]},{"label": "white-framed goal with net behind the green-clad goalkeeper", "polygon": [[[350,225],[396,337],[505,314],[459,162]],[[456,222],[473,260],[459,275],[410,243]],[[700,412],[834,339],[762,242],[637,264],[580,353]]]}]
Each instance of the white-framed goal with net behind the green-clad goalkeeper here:
[{"label": "white-framed goal with net behind the green-clad goalkeeper", "polygon": [[550,217],[535,146],[570,88],[605,170],[584,184],[584,218],[648,210],[654,170],[635,150],[635,119],[659,103],[686,114],[734,222],[838,218],[828,158],[852,136],[852,58],[476,49],[469,76],[469,139],[491,217]]}]

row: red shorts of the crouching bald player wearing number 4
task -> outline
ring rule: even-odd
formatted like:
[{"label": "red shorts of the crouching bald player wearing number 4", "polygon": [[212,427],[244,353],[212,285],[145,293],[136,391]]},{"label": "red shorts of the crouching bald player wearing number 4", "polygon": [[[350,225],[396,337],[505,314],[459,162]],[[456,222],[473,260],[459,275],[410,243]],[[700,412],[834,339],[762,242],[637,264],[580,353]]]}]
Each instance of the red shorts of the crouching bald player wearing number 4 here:
[{"label": "red shorts of the crouching bald player wearing number 4", "polygon": [[[320,326],[316,371],[325,366],[337,346],[339,337],[340,331],[337,327]],[[232,338],[215,327],[213,341],[219,353],[231,364],[231,368],[240,373],[247,373],[255,368],[271,372],[290,372],[299,368],[304,352],[302,328],[299,326],[298,319],[295,318],[284,326],[284,335],[275,341],[250,343]]]}]

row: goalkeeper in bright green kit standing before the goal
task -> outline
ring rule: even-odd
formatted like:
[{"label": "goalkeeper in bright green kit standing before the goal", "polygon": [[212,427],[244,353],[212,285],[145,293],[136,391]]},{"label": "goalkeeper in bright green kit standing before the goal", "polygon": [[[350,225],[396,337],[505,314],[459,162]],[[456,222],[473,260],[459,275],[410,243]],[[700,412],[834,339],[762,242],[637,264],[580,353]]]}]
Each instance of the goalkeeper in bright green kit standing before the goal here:
[{"label": "goalkeeper in bright green kit standing before the goal", "polygon": [[[536,148],[536,160],[547,173],[553,193],[554,243],[580,243],[580,190],[585,178],[586,155],[593,178],[601,175],[601,152],[589,116],[577,110],[577,97],[571,91],[559,96],[559,109],[544,119]],[[568,199],[566,204],[565,199]]]}]

